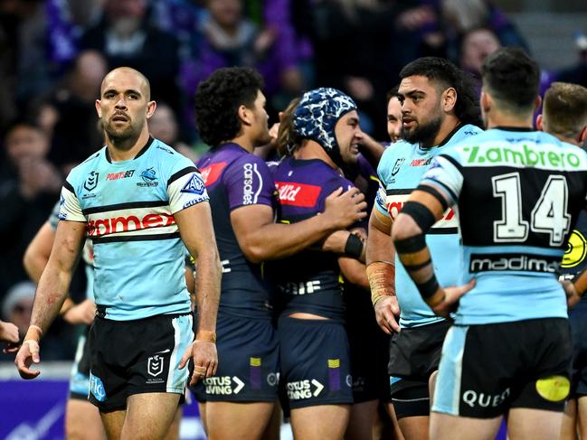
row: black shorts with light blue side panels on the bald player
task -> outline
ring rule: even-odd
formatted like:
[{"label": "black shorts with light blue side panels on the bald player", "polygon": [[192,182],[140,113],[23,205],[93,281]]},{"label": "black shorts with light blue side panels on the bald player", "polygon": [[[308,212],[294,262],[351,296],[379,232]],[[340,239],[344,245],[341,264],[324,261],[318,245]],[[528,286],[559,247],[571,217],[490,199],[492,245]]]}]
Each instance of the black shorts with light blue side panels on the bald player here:
[{"label": "black shorts with light blue side panels on the bald player", "polygon": [[179,362],[194,340],[192,314],[133,321],[97,316],[90,329],[89,400],[101,412],[127,407],[141,393],[176,393],[184,401],[188,368]]}]

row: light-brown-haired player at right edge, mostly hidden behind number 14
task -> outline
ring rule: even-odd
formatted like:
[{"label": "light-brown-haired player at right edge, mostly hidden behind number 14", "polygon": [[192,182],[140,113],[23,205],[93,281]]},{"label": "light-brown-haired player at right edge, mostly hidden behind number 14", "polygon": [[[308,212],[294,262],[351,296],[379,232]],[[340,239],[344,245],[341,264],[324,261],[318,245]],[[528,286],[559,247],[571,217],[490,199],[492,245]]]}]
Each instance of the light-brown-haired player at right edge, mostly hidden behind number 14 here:
[{"label": "light-brown-haired player at right edge, mostly hidden behind number 14", "polygon": [[[587,89],[577,84],[554,82],[544,93],[539,130],[563,142],[582,146],[587,139]],[[581,212],[569,237],[560,273],[572,280],[587,267],[587,213]],[[574,440],[579,433],[587,438],[587,299],[569,311],[573,340],[571,394],[564,407],[561,440]]]}]

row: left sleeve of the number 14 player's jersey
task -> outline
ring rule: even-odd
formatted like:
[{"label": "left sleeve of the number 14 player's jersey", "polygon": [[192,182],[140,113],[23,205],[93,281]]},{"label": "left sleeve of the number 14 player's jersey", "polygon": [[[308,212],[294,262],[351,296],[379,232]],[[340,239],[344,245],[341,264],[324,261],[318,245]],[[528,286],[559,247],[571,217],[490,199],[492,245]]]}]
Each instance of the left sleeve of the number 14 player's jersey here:
[{"label": "left sleeve of the number 14 player's jersey", "polygon": [[463,187],[463,175],[460,170],[459,161],[454,156],[440,154],[432,160],[421,178],[421,183],[439,188],[449,196],[449,204],[453,206],[459,201]]}]

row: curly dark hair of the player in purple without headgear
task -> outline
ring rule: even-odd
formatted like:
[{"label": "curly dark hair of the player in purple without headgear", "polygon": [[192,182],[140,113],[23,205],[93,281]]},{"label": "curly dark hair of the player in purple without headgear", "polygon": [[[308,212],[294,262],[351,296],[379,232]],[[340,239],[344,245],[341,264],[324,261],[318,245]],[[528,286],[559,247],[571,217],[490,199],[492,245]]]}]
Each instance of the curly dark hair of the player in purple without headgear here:
[{"label": "curly dark hair of the player in purple without headgear", "polygon": [[252,108],[260,89],[259,72],[245,67],[222,68],[202,81],[195,91],[195,125],[202,140],[216,147],[238,136],[238,109]]}]

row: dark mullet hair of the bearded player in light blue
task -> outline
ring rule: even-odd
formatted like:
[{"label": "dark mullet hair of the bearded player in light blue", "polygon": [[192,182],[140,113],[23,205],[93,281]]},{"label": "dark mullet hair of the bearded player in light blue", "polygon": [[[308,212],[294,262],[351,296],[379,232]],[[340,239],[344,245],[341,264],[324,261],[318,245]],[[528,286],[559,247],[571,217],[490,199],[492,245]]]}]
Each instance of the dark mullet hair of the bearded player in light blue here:
[{"label": "dark mullet hair of the bearded player in light blue", "polygon": [[472,75],[460,70],[449,60],[439,57],[422,57],[407,64],[400,71],[400,78],[423,76],[442,89],[457,91],[455,115],[463,124],[483,126],[479,109],[478,91]]}]

